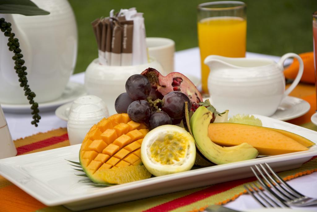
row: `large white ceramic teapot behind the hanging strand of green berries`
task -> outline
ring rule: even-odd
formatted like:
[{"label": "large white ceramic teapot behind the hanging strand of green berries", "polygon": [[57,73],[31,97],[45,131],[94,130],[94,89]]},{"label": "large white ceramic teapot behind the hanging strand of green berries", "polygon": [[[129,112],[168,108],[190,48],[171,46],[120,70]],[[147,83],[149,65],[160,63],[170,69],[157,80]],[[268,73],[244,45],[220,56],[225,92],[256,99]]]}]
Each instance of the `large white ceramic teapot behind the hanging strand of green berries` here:
[{"label": "large white ceramic teapot behind the hanging strand of green berries", "polygon": [[[35,101],[48,102],[61,96],[77,57],[77,26],[67,0],[32,0],[50,12],[43,16],[0,14],[12,24],[19,39],[28,83],[36,93]],[[2,33],[2,32],[1,32]],[[13,69],[14,55],[8,50],[8,38],[0,35],[0,102],[28,104]]]}]

